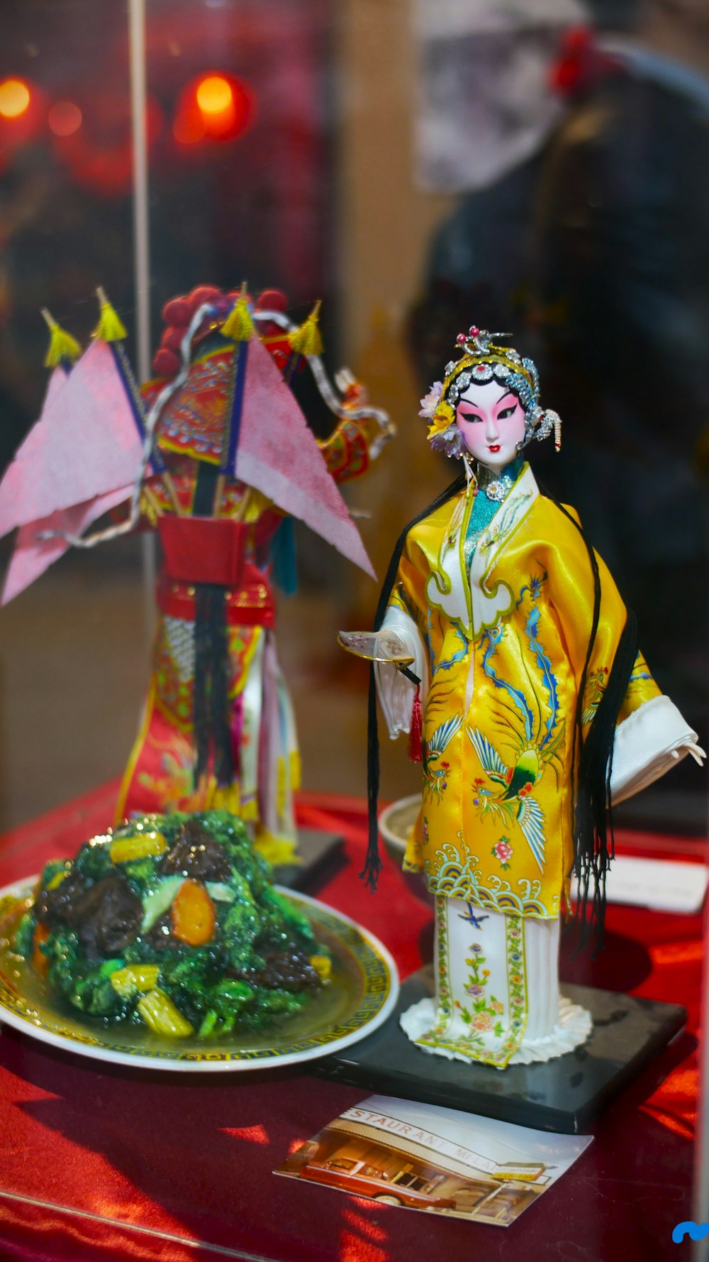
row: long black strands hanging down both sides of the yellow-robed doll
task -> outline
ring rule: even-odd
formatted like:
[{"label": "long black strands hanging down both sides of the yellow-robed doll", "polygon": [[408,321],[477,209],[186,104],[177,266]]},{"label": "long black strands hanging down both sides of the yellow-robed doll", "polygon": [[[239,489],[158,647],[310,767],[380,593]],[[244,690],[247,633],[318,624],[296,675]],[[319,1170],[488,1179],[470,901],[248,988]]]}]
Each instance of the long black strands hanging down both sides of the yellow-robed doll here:
[{"label": "long black strands hanging down both sides of the yellow-robed doll", "polygon": [[[452,500],[466,486],[466,478],[459,477],[431,504],[419,512],[413,521],[402,530],[396,541],[394,555],[389,563],[386,578],[380,593],[377,611],[375,615],[373,630],[378,631],[389,606],[391,589],[394,587],[401,553],[406,543],[409,531],[428,517],[437,509],[440,509],[448,500]],[[590,936],[597,936],[597,950],[603,946],[603,924],[606,916],[606,875],[611,861],[614,857],[613,820],[611,813],[611,771],[613,766],[613,740],[616,736],[616,723],[623,703],[623,697],[628,687],[633,664],[637,655],[637,623],[635,613],[627,611],[626,625],[623,627],[618,647],[613,658],[606,690],[587,732],[585,741],[582,731],[583,699],[588,679],[588,668],[601,616],[601,575],[598,562],[593,546],[579,526],[575,517],[566,509],[558,504],[556,507],[573,521],[585,544],[589,563],[593,573],[593,617],[588,649],[584,661],[579,690],[577,697],[577,712],[574,717],[574,748],[571,758],[571,774],[575,776],[573,787],[573,833],[574,833],[574,863],[571,871],[579,882],[579,893],[574,920],[580,925],[580,943],[585,945]],[[377,824],[377,798],[378,798],[378,731],[376,708],[376,680],[373,664],[370,668],[370,695],[367,713],[367,806],[368,806],[368,842],[365,867],[360,873],[372,891],[376,890],[381,858],[378,853],[378,824]]]}]

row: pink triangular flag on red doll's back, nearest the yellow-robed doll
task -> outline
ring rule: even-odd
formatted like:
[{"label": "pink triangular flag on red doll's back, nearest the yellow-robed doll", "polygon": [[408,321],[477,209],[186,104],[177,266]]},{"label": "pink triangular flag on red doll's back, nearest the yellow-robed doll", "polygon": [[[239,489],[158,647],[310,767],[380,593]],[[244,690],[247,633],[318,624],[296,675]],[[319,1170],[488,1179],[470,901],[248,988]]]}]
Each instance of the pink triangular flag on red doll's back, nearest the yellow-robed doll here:
[{"label": "pink triangular flag on red doll's back, nearest the yellow-robed doll", "polygon": [[235,475],[375,577],[317,439],[257,337],[249,342]]}]

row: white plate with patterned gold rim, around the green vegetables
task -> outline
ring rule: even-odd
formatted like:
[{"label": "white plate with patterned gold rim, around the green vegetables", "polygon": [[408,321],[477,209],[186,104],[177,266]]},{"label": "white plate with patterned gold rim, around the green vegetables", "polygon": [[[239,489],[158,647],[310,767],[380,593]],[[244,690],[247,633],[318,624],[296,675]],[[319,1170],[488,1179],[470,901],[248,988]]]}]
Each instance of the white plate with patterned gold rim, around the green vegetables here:
[{"label": "white plate with patterned gold rim, around the green vegetables", "polygon": [[396,964],[386,946],[349,916],[305,893],[280,888],[305,912],[332,954],[332,979],[300,1012],[267,1031],[221,1039],[164,1039],[134,1023],[85,1017],[13,952],[11,934],[32,904],[37,877],[0,890],[0,1025],[81,1056],[141,1069],[220,1073],[295,1065],[341,1051],[372,1034],[399,997]]}]

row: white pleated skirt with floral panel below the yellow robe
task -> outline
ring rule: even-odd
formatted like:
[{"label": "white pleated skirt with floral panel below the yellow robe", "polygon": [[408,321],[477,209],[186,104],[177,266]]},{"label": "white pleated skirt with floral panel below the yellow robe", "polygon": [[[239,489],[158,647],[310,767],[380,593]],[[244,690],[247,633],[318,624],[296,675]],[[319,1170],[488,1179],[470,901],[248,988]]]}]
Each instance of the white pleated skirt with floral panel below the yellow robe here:
[{"label": "white pleated skirt with floral panel below the yellow robe", "polygon": [[438,897],[435,936],[435,1000],[400,1018],[424,1051],[505,1069],[585,1042],[590,1013],[559,994],[559,920]]}]

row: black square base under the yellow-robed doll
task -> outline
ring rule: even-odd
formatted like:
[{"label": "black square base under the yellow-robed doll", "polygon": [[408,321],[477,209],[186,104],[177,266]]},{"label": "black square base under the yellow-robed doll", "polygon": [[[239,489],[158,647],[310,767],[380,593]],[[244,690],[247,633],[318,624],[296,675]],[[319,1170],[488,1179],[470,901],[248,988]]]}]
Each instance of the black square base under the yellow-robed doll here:
[{"label": "black square base under the yellow-robed doll", "polygon": [[578,1135],[684,1029],[686,1012],[676,1003],[588,986],[563,984],[561,989],[589,1010],[593,1034],[582,1047],[555,1060],[500,1070],[421,1051],[401,1030],[399,1016],[433,994],[429,965],[404,982],[399,1005],[380,1030],[317,1061],[313,1071],[380,1094]]}]

